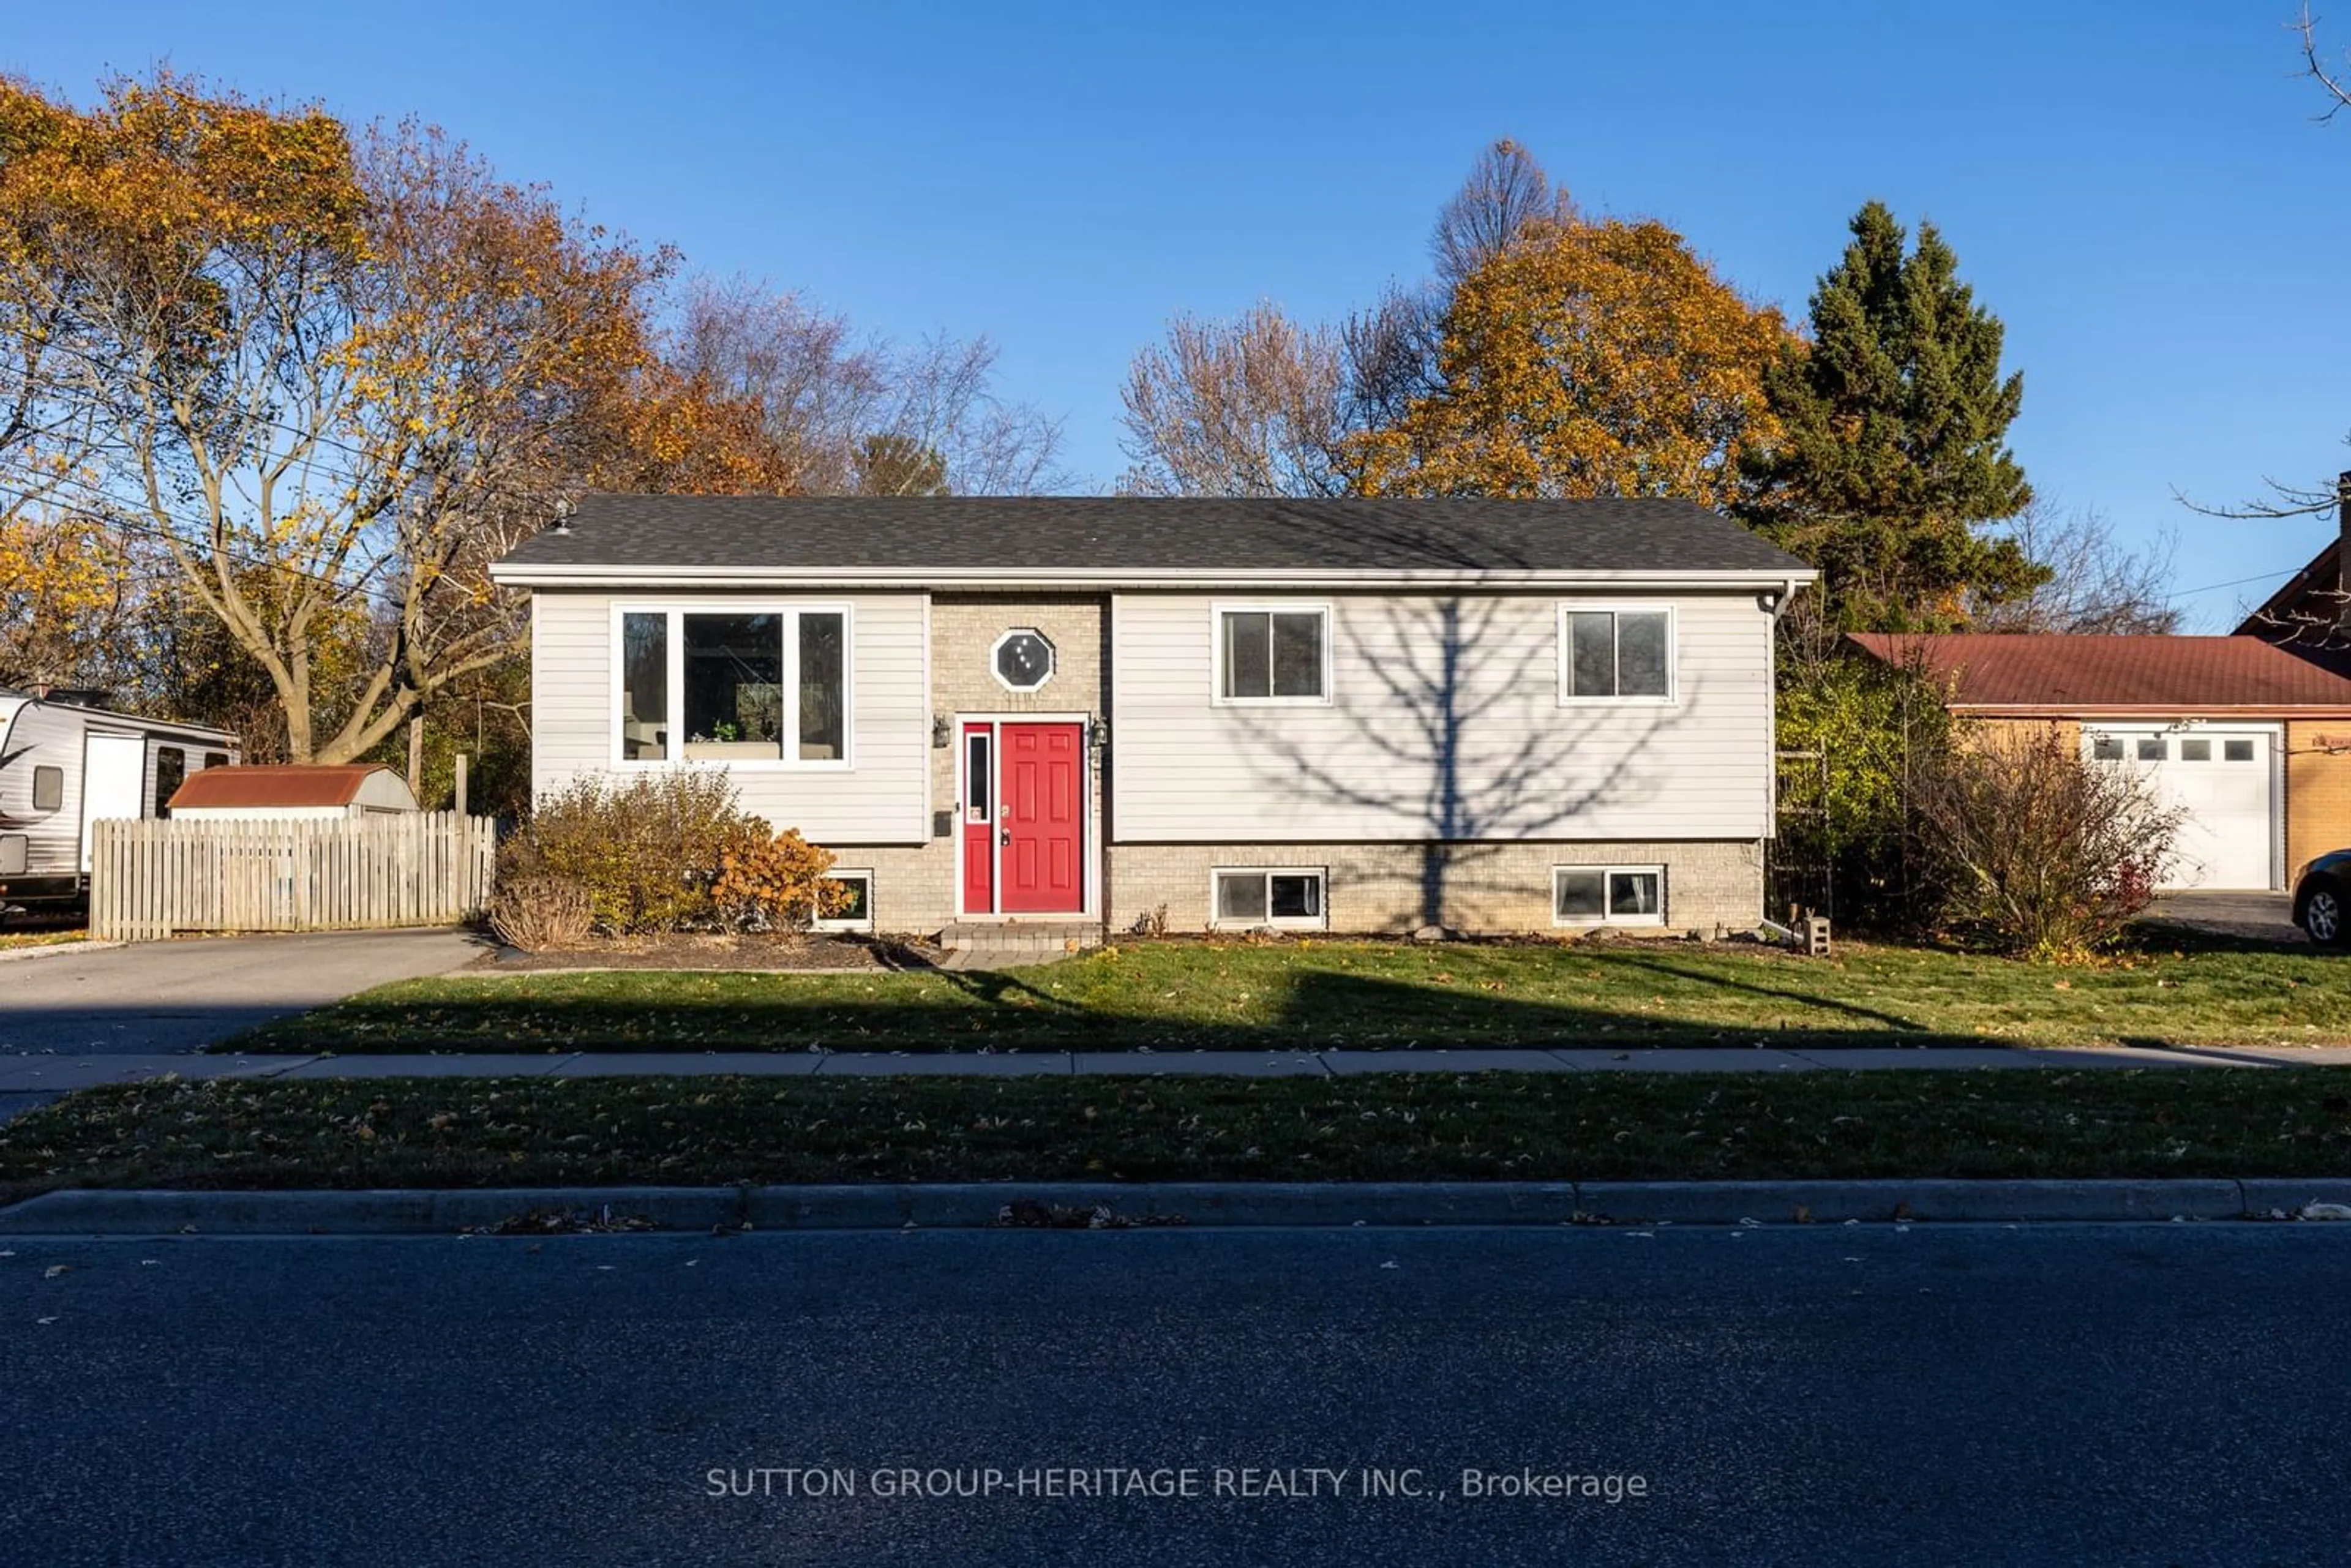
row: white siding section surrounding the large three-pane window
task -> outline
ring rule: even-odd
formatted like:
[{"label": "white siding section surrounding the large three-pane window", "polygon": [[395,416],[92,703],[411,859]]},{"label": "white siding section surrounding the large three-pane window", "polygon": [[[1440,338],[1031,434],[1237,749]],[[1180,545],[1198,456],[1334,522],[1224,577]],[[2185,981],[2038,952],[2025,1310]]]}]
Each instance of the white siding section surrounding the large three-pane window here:
[{"label": "white siding section surrounding the large three-pane window", "polygon": [[[545,795],[581,773],[611,773],[616,755],[616,604],[703,614],[759,611],[776,595],[644,595],[538,590],[531,595],[531,790]],[[799,599],[795,599],[797,604]],[[806,599],[816,607],[818,599]],[[919,592],[823,595],[849,614],[846,766],[729,769],[743,809],[816,844],[919,844],[931,832],[931,696],[926,616]],[[632,764],[639,773],[647,764]],[[726,766],[696,762],[679,766]]]}]

